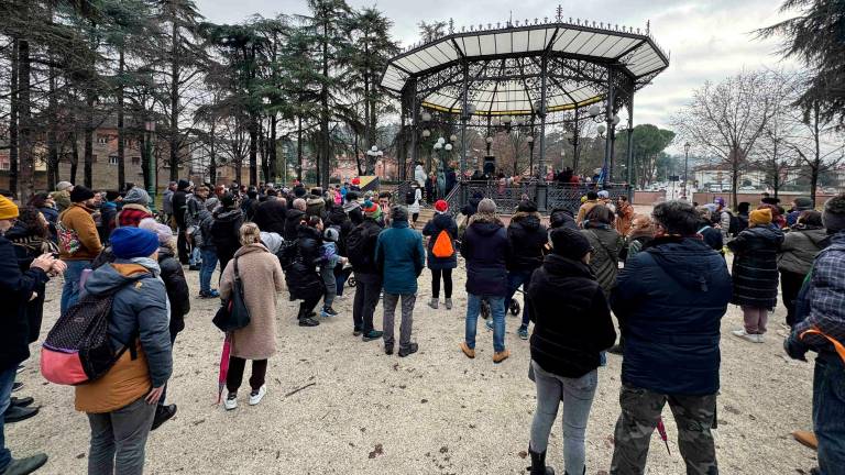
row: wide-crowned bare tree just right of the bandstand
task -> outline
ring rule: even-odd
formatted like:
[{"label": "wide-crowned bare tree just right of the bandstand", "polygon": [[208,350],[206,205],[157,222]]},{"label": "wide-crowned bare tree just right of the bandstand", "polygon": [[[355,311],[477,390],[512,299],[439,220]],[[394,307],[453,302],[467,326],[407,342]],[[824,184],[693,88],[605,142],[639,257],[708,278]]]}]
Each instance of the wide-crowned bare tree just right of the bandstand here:
[{"label": "wide-crowned bare tree just right of the bandstand", "polygon": [[717,85],[707,81],[672,118],[683,141],[728,169],[734,206],[739,174],[782,100],[777,96],[778,80],[776,74],[760,70],[743,71]]}]

